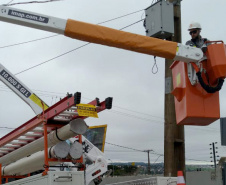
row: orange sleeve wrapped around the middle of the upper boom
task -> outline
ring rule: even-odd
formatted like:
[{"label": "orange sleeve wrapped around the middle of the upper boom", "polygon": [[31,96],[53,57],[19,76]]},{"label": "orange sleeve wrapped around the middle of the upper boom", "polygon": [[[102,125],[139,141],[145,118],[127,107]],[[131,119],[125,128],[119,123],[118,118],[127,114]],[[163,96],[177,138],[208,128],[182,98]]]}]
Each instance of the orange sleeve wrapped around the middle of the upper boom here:
[{"label": "orange sleeve wrapped around the middle of the upper boom", "polygon": [[91,43],[174,59],[177,43],[68,19],[65,36]]}]

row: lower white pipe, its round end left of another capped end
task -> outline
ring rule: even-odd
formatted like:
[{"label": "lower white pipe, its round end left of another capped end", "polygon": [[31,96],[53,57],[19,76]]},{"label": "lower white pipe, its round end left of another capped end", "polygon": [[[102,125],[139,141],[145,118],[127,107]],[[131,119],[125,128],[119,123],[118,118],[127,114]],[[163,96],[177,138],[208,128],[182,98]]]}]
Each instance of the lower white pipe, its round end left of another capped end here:
[{"label": "lower white pipe, its round end left of another capped end", "polygon": [[[48,153],[54,155],[56,158],[61,158],[62,155],[66,157],[69,153],[69,150],[70,146],[64,141],[48,149]],[[29,157],[25,157],[16,161],[15,163],[4,166],[2,168],[2,175],[26,175],[41,170],[43,169],[44,160],[44,151],[39,151]],[[57,165],[60,163],[60,161],[50,162],[49,165]]]}]

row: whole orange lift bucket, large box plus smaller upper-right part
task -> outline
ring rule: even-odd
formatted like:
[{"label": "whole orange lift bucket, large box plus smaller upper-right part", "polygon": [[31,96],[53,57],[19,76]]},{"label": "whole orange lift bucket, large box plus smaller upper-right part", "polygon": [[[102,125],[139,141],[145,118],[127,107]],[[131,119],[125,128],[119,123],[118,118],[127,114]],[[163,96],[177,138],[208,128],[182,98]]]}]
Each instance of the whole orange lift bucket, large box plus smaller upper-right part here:
[{"label": "whole orange lift bucket, large box plus smaller upper-right part", "polygon": [[[220,118],[219,90],[226,77],[226,47],[222,41],[211,43],[205,53],[207,59],[200,65],[204,86],[200,79],[199,83],[191,84],[187,63],[175,61],[170,67],[178,125],[209,125]],[[221,86],[214,91],[220,81]]]}]

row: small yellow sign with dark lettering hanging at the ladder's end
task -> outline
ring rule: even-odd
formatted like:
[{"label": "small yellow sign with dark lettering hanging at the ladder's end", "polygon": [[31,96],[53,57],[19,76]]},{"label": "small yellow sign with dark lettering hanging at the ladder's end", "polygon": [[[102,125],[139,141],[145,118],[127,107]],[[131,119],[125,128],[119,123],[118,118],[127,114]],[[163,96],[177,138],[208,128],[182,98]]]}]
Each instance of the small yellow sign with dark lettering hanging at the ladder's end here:
[{"label": "small yellow sign with dark lettering hanging at the ladder's end", "polygon": [[97,109],[94,105],[77,104],[76,106],[79,116],[98,118]]}]

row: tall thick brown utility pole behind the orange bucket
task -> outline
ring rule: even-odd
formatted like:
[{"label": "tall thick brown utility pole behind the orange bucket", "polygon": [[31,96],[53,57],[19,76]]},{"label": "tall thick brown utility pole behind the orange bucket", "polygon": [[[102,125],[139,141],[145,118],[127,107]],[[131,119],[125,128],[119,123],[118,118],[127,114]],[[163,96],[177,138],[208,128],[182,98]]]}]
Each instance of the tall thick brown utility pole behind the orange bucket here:
[{"label": "tall thick brown utility pole behind the orange bucket", "polygon": [[[169,0],[174,3],[174,36],[170,41],[181,43],[181,5],[180,0]],[[177,176],[177,171],[185,172],[184,126],[176,125],[174,97],[171,94],[173,82],[169,68],[172,60],[165,62],[165,131],[164,131],[164,176]],[[184,173],[185,174],[185,173]]]}]

